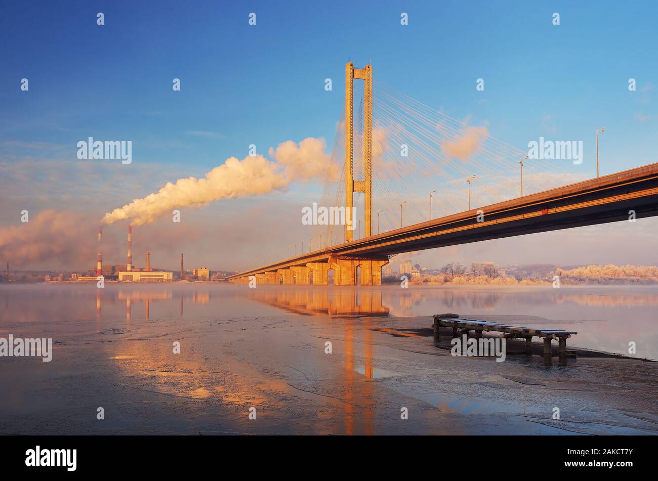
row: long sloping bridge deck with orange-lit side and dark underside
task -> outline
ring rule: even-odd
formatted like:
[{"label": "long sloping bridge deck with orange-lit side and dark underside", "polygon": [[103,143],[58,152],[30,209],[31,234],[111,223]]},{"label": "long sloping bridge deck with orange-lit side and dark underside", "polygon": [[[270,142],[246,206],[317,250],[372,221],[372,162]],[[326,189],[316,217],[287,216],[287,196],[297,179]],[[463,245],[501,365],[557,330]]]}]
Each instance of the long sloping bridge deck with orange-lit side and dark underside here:
[{"label": "long sloping bridge deck with orange-lit side and dark underside", "polygon": [[328,262],[330,257],[386,259],[402,252],[627,220],[631,210],[636,218],[658,215],[658,164],[329,246],[238,273],[229,279],[307,262]]}]

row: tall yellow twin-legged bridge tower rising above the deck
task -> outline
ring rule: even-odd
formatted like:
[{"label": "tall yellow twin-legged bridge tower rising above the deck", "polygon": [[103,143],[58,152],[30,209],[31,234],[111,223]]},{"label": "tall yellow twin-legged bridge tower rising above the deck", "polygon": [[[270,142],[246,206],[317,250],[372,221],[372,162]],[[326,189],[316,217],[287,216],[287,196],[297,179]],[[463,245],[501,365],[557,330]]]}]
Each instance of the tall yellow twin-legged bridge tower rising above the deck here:
[{"label": "tall yellow twin-legged bridge tower rising above the deck", "polygon": [[[354,79],[365,80],[363,180],[354,179]],[[372,66],[354,68],[345,64],[345,242],[354,240],[354,193],[364,196],[364,236],[372,235]]]}]

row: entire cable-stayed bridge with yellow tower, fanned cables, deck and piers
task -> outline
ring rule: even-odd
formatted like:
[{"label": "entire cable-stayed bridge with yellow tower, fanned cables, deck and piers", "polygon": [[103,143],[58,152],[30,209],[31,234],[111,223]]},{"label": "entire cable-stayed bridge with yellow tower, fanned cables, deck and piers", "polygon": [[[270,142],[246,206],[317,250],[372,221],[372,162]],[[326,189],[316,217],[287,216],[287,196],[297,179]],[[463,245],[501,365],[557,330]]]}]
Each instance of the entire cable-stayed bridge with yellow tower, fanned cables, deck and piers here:
[{"label": "entire cable-stayed bridge with yellow tower, fanned cables, deck and piers", "polygon": [[379,285],[402,252],[658,215],[658,164],[582,179],[569,170],[582,143],[528,158],[486,127],[374,82],[369,65],[348,63],[345,85],[318,203],[342,209],[344,225],[314,225],[306,249],[275,251],[231,281],[326,285],[333,271],[335,285]]}]

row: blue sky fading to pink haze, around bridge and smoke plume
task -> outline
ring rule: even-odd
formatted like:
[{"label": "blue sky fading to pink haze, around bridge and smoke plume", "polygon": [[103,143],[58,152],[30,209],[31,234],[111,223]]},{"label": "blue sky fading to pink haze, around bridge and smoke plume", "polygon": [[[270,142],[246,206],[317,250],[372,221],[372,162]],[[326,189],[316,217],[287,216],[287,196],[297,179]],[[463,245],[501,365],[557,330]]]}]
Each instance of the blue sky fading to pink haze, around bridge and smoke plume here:
[{"label": "blue sky fading to pink haze, around bridge and smoke plume", "polygon": [[[602,126],[601,174],[656,162],[658,5],[651,1],[0,5],[0,260],[11,258],[17,269],[90,269],[107,212],[167,182],[203,177],[232,156],[241,160],[249,145],[274,160],[270,148],[312,137],[325,139],[328,153],[347,61],[372,64],[377,80],[486,125],[519,149],[541,136],[582,140],[584,162],[570,166],[579,175],[595,175]],[[484,91],[475,88],[478,78]],[[78,159],[77,143],[88,137],[132,141],[132,163]],[[160,218],[134,229],[134,263],[150,250],[155,267],[176,268],[180,252],[190,266],[253,267],[264,238],[286,248],[308,237],[299,212],[321,189],[321,181],[297,176],[282,189],[182,208],[180,223]],[[427,267],[658,263],[658,221],[622,224],[409,257]],[[104,263],[125,262],[126,225],[104,228]]]}]

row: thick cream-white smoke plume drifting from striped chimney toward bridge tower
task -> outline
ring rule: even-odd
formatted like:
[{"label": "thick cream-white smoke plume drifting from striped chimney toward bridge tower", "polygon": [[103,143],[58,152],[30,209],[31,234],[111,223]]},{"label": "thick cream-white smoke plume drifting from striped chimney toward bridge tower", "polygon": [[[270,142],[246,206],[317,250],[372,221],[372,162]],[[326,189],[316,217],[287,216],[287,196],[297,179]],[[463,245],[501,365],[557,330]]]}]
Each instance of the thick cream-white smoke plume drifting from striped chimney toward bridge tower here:
[{"label": "thick cream-white smoke plume drifting from striped chimney toward bridge tower", "polygon": [[131,225],[155,221],[172,210],[186,206],[201,206],[224,198],[262,195],[285,190],[293,181],[309,181],[319,177],[336,177],[324,152],[324,139],[309,137],[297,145],[293,141],[269,150],[274,161],[263,155],[242,160],[231,157],[224,164],[206,173],[202,179],[188,177],[168,182],[157,193],[134,199],[130,204],[108,212],[103,223],[130,219]]}]

